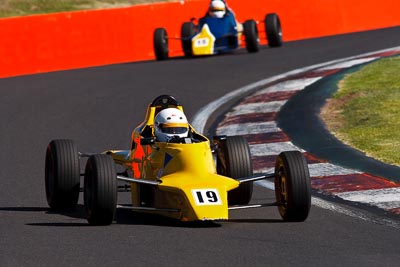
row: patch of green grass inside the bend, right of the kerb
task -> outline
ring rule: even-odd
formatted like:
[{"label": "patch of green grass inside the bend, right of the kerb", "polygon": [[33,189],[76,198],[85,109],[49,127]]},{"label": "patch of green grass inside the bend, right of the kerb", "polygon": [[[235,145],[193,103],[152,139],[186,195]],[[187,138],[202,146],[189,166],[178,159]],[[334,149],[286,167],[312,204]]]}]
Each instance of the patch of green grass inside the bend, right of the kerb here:
[{"label": "patch of green grass inside the bend, right of the kerb", "polygon": [[[345,143],[400,166],[400,57],[382,59],[347,75],[323,115]],[[337,116],[335,116],[335,114]]]}]

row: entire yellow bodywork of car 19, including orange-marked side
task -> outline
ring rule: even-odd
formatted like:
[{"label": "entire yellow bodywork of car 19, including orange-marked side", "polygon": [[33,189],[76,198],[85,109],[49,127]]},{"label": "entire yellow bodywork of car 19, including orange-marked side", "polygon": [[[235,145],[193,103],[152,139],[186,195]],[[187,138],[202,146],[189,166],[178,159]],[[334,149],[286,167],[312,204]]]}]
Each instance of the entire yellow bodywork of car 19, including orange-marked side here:
[{"label": "entire yellow bodywork of car 19, including orange-marked side", "polygon": [[[181,106],[177,108],[182,110]],[[156,107],[148,107],[145,121],[132,133],[132,150],[107,151],[133,178],[158,181],[158,185],[131,183],[132,205],[141,207],[141,190],[151,196],[150,212],[182,221],[228,219],[228,191],[239,182],[217,174],[210,141],[141,145],[143,135],[153,133]],[[145,133],[146,132],[146,133]],[[168,210],[168,211],[167,211]]]}]

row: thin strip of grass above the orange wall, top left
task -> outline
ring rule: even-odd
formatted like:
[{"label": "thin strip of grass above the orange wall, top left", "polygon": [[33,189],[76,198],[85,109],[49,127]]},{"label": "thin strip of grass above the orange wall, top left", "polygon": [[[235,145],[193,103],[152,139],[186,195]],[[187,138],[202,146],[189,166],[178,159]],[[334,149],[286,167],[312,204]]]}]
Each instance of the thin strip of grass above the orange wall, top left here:
[{"label": "thin strip of grass above the orange wall, top left", "polygon": [[0,17],[4,18],[174,1],[176,0],[1,0]]}]

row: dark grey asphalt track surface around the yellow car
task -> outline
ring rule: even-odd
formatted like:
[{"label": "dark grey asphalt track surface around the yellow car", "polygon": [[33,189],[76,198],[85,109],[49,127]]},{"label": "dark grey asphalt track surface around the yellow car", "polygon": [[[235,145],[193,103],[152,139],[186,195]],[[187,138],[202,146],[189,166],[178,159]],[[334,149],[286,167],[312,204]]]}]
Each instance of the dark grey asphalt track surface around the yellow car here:
[{"label": "dark grey asphalt track surface around the yellow car", "polygon": [[[232,90],[293,69],[400,44],[400,27],[286,43],[225,56],[0,79],[0,266],[398,266],[400,230],[313,206],[304,223],[276,208],[221,223],[181,224],[118,211],[108,227],[77,211],[49,211],[44,156],[55,138],[83,152],[127,149],[147,104],[175,95],[189,118]],[[128,203],[128,194],[120,194]],[[273,201],[257,187],[253,199]],[[373,215],[375,216],[375,215]],[[379,216],[377,214],[376,216]]]}]

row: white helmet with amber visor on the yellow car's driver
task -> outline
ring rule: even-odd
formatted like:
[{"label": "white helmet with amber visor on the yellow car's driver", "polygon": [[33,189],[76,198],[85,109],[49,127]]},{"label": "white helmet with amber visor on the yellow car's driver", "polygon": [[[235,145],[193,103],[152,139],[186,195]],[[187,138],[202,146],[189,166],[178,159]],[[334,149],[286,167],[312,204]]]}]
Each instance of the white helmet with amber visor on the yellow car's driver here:
[{"label": "white helmet with amber visor on the yellow car's driver", "polygon": [[161,110],[154,119],[154,133],[158,142],[168,142],[173,137],[187,137],[189,123],[185,114],[177,108]]}]

